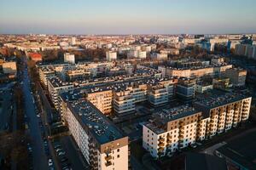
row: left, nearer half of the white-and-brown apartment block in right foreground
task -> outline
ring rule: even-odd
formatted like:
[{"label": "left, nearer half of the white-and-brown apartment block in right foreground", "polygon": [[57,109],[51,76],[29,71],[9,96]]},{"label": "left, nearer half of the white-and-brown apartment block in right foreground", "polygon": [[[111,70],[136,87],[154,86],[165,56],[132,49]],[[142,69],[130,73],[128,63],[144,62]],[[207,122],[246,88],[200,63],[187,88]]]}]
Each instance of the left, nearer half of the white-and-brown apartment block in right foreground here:
[{"label": "left, nearer half of the white-and-brown apartment block in right foreground", "polygon": [[201,111],[189,105],[162,110],[143,125],[143,148],[153,157],[165,156],[194,144]]}]

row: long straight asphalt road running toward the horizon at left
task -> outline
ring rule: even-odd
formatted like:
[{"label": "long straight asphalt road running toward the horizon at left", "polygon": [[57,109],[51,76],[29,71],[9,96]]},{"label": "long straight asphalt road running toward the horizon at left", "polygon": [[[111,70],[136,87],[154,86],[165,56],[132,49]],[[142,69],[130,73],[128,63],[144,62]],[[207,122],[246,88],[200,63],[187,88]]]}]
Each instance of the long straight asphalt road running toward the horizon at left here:
[{"label": "long straight asphalt road running toward the horizon at left", "polygon": [[[26,63],[26,62],[25,62]],[[47,157],[44,153],[44,141],[41,136],[40,127],[38,124],[38,118],[35,113],[35,106],[32,100],[30,78],[28,77],[27,69],[24,69],[22,90],[25,97],[25,111],[28,117],[29,131],[32,139],[32,159],[33,169],[45,170],[48,169]]]}]

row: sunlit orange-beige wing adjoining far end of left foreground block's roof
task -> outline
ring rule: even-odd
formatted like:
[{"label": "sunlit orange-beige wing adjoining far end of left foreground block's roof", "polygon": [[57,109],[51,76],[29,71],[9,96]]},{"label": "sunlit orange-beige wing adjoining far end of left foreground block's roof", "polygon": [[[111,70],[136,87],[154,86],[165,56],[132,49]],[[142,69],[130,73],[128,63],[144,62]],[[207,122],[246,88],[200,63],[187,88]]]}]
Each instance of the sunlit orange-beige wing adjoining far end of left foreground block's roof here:
[{"label": "sunlit orange-beige wing adjoining far end of left foreground block's roof", "polygon": [[85,98],[90,101],[92,105],[102,111],[103,114],[109,115],[113,110],[113,92],[112,89],[107,88],[90,88],[86,90]]}]

